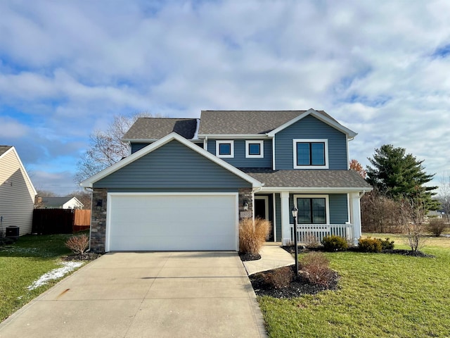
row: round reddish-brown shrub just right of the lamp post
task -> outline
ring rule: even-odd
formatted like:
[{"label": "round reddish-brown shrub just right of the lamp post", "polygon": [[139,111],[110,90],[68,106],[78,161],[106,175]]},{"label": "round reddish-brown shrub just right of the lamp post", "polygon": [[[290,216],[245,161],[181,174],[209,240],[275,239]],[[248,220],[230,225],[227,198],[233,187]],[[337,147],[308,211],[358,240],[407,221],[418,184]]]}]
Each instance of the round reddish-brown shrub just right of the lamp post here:
[{"label": "round reddish-brown shrub just right of the lamp post", "polygon": [[335,273],[330,269],[330,261],[318,251],[311,251],[299,261],[301,275],[313,284],[328,285]]}]

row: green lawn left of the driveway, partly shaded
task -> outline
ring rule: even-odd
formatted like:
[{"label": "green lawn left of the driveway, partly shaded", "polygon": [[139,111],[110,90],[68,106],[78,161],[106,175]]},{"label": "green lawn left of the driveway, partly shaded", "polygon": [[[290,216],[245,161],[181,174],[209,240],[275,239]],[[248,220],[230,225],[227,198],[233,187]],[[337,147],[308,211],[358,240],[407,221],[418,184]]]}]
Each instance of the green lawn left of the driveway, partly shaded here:
[{"label": "green lawn left of the driveway, partly shaded", "polygon": [[27,287],[44,273],[60,268],[60,257],[71,251],[65,241],[71,234],[25,235],[0,247],[0,321],[52,287],[53,280],[37,289]]}]

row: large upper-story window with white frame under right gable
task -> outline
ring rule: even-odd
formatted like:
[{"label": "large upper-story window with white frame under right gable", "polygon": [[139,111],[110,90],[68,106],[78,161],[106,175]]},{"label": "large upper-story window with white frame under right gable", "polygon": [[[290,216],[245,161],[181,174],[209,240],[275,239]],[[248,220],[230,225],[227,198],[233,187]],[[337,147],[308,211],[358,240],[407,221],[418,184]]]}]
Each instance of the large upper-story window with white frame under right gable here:
[{"label": "large upper-story window with white frame under right gable", "polygon": [[328,139],[294,139],[294,169],[328,169]]}]

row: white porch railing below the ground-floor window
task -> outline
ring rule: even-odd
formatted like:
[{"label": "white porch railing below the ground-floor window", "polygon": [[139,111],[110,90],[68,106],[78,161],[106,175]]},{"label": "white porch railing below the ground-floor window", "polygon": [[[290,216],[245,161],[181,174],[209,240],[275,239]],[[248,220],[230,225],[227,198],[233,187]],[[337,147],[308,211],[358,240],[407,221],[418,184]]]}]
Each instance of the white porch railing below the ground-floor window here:
[{"label": "white porch railing below the ground-floor window", "polygon": [[[294,225],[290,225],[290,237],[294,242]],[[352,224],[299,224],[297,225],[297,240],[300,244],[320,243],[327,235],[344,237],[353,243],[354,232]]]}]

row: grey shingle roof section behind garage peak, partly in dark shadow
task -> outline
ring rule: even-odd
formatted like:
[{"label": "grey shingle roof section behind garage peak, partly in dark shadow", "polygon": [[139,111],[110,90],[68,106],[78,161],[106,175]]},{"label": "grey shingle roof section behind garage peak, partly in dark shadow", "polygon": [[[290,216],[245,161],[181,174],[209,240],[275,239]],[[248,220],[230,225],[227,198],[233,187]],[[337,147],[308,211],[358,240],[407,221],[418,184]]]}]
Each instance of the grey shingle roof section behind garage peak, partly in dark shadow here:
[{"label": "grey shingle roof section behind garage peak, partly in dark shadow", "polygon": [[123,139],[161,139],[171,132],[192,139],[196,129],[196,118],[138,118]]}]

